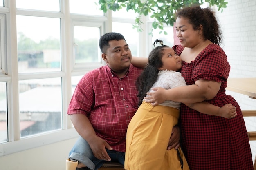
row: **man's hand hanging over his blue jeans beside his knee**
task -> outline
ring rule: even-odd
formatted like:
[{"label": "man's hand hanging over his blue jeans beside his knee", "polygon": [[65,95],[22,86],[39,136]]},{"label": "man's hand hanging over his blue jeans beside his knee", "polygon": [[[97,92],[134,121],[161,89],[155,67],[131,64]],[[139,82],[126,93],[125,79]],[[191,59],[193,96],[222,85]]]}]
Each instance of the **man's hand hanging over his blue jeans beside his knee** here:
[{"label": "man's hand hanging over his blue jeans beside his knee", "polygon": [[90,142],[89,145],[92,149],[93,155],[98,159],[111,161],[106,149],[113,150],[113,148],[111,148],[111,146],[100,137],[94,137],[91,141],[92,142]]}]

